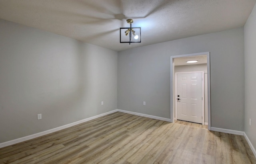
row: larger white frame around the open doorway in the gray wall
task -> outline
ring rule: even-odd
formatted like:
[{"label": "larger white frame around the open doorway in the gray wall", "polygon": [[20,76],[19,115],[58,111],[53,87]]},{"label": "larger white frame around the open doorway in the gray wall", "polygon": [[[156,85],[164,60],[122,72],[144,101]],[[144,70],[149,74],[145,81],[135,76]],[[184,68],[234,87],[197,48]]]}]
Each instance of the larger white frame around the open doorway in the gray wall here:
[{"label": "larger white frame around the open doorway in the gray wall", "polygon": [[211,130],[211,85],[210,85],[210,52],[203,53],[192,53],[185,55],[175,55],[170,57],[170,121],[174,121],[174,101],[175,101],[175,93],[174,93],[174,59],[179,57],[192,57],[198,55],[206,55],[207,56],[207,95],[208,95],[208,130]]}]

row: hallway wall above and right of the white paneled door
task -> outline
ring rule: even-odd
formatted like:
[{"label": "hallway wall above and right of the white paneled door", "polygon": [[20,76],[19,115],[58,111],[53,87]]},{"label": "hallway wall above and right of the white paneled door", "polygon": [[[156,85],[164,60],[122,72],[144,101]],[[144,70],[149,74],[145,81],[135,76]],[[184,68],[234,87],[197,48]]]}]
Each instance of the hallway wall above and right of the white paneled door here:
[{"label": "hallway wall above and right of the white paneled door", "polygon": [[[191,65],[182,65],[182,66],[174,67],[174,73],[192,72],[192,71],[204,71],[204,123],[208,123],[207,64],[191,64]],[[174,92],[175,92],[175,88],[174,88]],[[175,115],[175,110],[174,110],[174,115]]]}]

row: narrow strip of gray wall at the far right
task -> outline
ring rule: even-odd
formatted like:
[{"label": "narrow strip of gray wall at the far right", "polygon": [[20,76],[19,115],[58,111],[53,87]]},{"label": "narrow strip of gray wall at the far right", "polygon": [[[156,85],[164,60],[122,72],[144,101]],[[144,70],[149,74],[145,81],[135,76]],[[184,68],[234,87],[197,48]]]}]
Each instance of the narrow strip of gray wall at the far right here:
[{"label": "narrow strip of gray wall at the far right", "polygon": [[[256,5],[244,26],[245,117],[244,131],[256,148]],[[252,120],[251,126],[249,119]]]}]

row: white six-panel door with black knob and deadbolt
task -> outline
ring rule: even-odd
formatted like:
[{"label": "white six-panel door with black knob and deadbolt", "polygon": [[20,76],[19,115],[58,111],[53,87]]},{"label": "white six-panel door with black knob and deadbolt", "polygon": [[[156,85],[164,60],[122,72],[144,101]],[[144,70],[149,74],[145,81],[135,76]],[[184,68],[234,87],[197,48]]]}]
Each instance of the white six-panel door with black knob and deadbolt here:
[{"label": "white six-panel door with black knob and deadbolt", "polygon": [[203,72],[176,73],[177,119],[202,123]]}]

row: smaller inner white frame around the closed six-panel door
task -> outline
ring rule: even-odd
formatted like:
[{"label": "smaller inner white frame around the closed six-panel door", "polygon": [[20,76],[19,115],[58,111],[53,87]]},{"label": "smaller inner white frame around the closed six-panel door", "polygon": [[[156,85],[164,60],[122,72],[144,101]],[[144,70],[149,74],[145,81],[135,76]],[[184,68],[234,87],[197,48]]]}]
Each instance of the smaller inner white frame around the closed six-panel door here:
[{"label": "smaller inner white frame around the closed six-panel door", "polygon": [[175,118],[177,120],[177,74],[190,74],[190,73],[201,73],[202,74],[202,125],[204,125],[204,71],[194,72],[175,72]]}]

